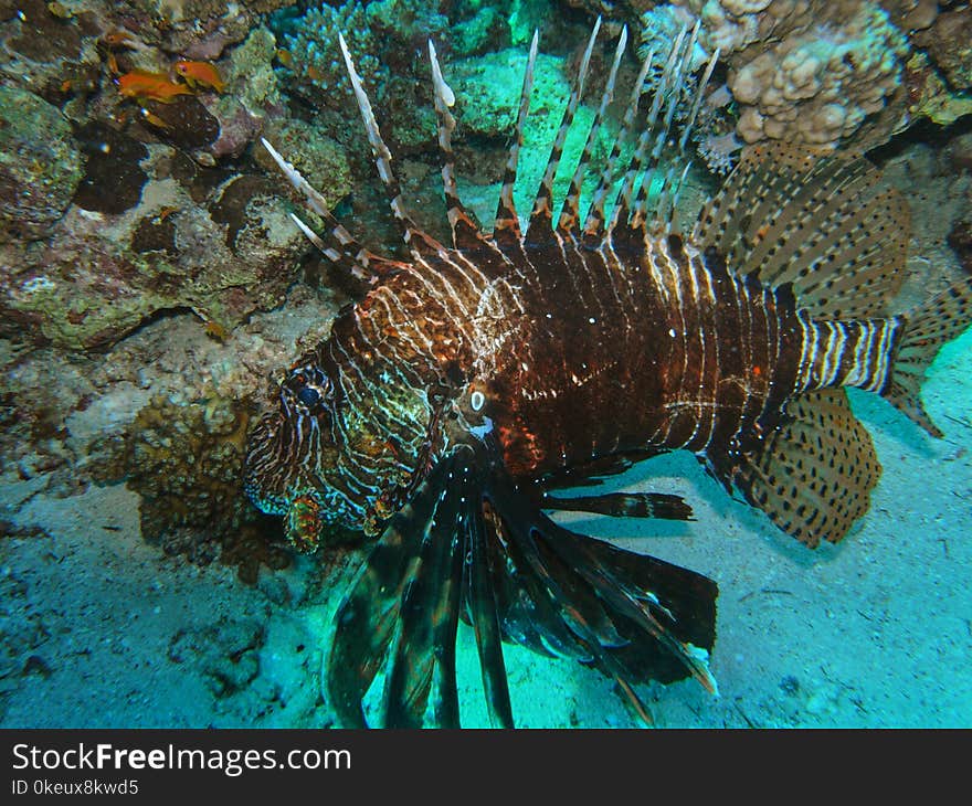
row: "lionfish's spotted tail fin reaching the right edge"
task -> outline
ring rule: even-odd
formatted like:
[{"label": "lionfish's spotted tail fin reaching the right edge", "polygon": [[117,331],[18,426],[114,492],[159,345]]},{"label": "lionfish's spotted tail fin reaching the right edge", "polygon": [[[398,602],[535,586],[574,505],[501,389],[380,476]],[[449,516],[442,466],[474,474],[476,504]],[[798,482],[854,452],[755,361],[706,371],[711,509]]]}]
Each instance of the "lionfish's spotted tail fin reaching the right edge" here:
[{"label": "lionfish's spotted tail fin reaching the right edge", "polygon": [[972,325],[972,277],[965,277],[905,317],[905,328],[891,357],[888,384],[881,393],[932,436],[942,432],[921,404],[925,372],[942,344]]}]

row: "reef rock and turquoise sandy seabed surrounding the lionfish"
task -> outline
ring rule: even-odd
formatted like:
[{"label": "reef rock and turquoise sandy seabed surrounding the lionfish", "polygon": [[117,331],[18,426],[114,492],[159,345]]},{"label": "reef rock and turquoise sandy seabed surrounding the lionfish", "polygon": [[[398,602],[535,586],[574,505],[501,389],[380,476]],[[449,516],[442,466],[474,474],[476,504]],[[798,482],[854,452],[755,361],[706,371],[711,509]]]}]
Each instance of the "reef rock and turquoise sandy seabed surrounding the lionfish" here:
[{"label": "reef rock and turquoise sandy seabed surrounding the lionfish", "polygon": [[[488,222],[539,29],[517,187],[529,209],[598,15],[614,35],[594,50],[567,163],[622,25],[628,86],[640,51],[701,20],[698,64],[720,56],[682,221],[746,144],[866,151],[911,209],[898,309],[972,272],[969,2],[0,0],[0,725],[334,723],[320,667],[362,538],[293,553],[242,467],[275,373],[363,288],[292,224],[260,137],[356,237],[398,247],[342,32],[411,208],[444,237],[431,38],[456,93],[459,191]],[[884,474],[836,547],[797,544],[687,454],[599,490],[673,492],[695,521],[557,516],[719,583],[720,696],[643,687],[657,724],[972,725],[972,332],[923,388],[943,438],[850,396]],[[516,646],[506,658],[518,724],[635,724],[596,671]],[[458,665],[464,724],[485,727],[466,625]]]}]

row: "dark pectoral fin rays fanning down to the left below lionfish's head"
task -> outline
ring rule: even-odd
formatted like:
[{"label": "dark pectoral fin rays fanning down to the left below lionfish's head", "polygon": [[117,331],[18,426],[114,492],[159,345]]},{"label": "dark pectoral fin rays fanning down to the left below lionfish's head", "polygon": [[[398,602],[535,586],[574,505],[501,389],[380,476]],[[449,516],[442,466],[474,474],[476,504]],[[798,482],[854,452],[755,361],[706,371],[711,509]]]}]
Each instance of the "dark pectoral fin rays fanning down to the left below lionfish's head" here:
[{"label": "dark pectoral fin rays fanning down to the left below lionfish's head", "polygon": [[381,721],[421,724],[435,680],[436,713],[457,724],[451,659],[462,574],[455,533],[463,479],[455,465],[453,456],[441,460],[389,521],[338,609],[326,679],[331,704],[347,727],[366,727],[363,700],[390,648]]}]

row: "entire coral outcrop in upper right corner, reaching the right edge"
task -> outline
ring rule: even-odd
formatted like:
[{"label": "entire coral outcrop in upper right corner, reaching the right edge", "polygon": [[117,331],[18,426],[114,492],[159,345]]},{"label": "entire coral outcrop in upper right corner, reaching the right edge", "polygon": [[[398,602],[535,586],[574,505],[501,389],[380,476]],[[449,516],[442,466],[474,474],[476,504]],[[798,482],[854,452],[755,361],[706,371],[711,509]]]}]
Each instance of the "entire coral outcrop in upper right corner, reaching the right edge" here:
[{"label": "entire coral outcrop in upper right corner, reaching the right edge", "polygon": [[[641,53],[701,22],[700,64],[719,49],[699,153],[731,168],[741,145],[783,139],[870,149],[921,117],[949,124],[972,112],[972,8],[934,0],[564,0],[641,31]],[[714,92],[715,95],[715,92]],[[730,137],[735,130],[736,137]]]}]

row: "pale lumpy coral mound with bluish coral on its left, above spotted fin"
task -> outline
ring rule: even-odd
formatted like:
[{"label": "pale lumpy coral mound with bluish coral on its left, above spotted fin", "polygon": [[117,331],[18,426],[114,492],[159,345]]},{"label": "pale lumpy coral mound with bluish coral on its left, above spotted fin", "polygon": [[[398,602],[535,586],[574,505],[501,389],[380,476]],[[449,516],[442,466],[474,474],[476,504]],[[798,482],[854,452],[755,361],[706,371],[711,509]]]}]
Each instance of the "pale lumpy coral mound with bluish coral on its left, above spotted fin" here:
[{"label": "pale lumpy coral mound with bluish coral on its left, above spotted fin", "polygon": [[695,19],[700,44],[718,47],[729,66],[736,132],[746,142],[834,148],[856,138],[873,146],[907,124],[900,102],[909,43],[877,3],[676,0],[645,12],[643,39]]}]

